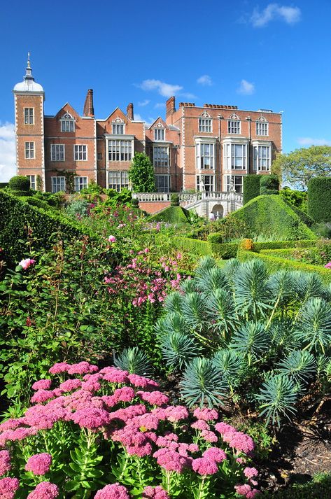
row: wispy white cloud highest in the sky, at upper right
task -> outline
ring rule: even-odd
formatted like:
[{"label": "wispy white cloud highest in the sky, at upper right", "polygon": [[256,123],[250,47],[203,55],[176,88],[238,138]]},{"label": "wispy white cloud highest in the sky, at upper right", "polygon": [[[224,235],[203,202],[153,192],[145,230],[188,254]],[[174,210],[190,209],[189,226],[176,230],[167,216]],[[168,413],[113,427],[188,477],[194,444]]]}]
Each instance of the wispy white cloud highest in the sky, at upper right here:
[{"label": "wispy white cloud highest in the sky, at upper right", "polygon": [[279,3],[269,3],[266,8],[259,10],[255,8],[251,15],[251,23],[254,27],[264,27],[270,21],[281,20],[287,24],[295,24],[301,19],[301,10],[299,7],[289,7],[279,5]]}]

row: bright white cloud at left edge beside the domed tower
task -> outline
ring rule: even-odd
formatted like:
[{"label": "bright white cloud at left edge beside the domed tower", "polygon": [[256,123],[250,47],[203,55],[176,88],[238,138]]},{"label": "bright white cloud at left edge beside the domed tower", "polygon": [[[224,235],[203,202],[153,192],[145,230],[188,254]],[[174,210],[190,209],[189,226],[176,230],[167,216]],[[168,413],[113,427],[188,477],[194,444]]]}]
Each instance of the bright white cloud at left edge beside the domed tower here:
[{"label": "bright white cloud at left edge beside the domed tower", "polygon": [[0,122],[0,182],[16,175],[15,125]]}]

